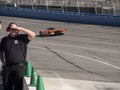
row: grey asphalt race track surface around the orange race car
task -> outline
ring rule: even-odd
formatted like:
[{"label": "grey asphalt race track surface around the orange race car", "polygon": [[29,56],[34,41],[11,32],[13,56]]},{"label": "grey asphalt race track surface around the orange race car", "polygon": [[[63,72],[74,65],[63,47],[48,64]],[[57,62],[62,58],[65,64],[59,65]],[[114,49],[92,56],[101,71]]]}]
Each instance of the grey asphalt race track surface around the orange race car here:
[{"label": "grey asphalt race track surface around the orange race car", "polygon": [[[0,20],[3,24],[0,37],[6,35],[10,22],[36,33],[28,46],[27,60],[37,74],[56,79],[54,84],[59,80],[68,90],[120,90],[120,27],[3,16]],[[39,37],[39,30],[48,27],[65,27],[67,31],[61,36]],[[86,84],[88,88],[84,87]]]}]

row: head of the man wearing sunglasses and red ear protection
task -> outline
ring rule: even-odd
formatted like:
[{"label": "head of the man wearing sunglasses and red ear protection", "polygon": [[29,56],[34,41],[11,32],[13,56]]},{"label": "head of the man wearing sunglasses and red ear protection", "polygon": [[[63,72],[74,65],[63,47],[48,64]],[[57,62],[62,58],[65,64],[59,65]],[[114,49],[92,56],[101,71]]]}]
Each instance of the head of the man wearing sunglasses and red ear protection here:
[{"label": "head of the man wearing sunglasses and red ear protection", "polygon": [[7,27],[7,31],[9,32],[11,37],[15,37],[19,33],[17,24],[11,22]]}]

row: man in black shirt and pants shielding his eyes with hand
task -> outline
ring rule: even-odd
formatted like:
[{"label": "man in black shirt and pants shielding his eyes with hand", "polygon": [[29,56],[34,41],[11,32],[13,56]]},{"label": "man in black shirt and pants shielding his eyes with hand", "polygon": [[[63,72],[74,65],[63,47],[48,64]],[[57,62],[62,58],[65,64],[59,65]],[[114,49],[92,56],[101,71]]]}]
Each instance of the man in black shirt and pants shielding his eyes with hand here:
[{"label": "man in black shirt and pants shielding his eyes with hand", "polygon": [[[20,31],[24,34],[19,34]],[[27,45],[35,33],[18,27],[14,22],[8,25],[7,32],[9,35],[3,37],[0,44],[0,52],[3,52],[4,90],[23,90]]]}]

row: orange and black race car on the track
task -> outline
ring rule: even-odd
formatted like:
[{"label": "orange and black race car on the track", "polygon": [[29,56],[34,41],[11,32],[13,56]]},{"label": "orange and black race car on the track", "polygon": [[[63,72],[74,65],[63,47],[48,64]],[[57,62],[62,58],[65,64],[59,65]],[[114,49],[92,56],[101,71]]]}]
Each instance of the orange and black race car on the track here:
[{"label": "orange and black race car on the track", "polygon": [[66,28],[55,29],[53,27],[49,27],[46,30],[40,30],[39,36],[63,35],[66,30],[67,30]]}]

